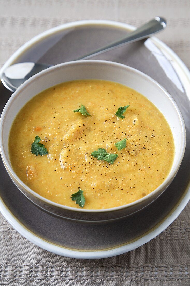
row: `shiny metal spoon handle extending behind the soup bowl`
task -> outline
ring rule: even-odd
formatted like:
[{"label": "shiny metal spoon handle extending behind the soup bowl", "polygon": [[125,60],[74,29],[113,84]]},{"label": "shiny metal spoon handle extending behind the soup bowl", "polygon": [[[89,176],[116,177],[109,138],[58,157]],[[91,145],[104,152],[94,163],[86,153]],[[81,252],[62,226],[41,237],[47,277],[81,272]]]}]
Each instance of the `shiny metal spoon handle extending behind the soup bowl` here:
[{"label": "shiny metal spoon handle extending behind the soup bowl", "polygon": [[112,49],[115,49],[117,47],[121,47],[123,45],[126,45],[127,43],[132,43],[135,41],[139,41],[142,39],[146,39],[155,33],[158,33],[162,29],[166,28],[166,20],[162,17],[155,17],[154,19],[150,20],[146,24],[140,26],[135,31],[128,34],[127,37],[120,39],[119,41],[113,42],[107,46],[101,47],[97,50],[91,51],[90,53],[87,53],[81,57],[78,57],[75,60],[79,59],[88,59],[89,57],[99,55],[100,53],[104,53],[105,51],[110,51]]}]

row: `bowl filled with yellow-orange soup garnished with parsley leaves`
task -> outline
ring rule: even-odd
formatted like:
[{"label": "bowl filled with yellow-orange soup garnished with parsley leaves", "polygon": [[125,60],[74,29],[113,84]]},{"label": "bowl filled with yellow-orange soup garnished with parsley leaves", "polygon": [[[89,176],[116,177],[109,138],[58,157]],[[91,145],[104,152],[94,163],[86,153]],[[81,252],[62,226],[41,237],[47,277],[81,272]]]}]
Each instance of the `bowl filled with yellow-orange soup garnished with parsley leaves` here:
[{"label": "bowl filled with yellow-orange soup garnished with parsley leaves", "polygon": [[86,223],[148,206],[185,150],[183,118],[167,91],[132,67],[100,60],[59,64],[27,80],[7,102],[0,132],[19,190],[50,214]]}]

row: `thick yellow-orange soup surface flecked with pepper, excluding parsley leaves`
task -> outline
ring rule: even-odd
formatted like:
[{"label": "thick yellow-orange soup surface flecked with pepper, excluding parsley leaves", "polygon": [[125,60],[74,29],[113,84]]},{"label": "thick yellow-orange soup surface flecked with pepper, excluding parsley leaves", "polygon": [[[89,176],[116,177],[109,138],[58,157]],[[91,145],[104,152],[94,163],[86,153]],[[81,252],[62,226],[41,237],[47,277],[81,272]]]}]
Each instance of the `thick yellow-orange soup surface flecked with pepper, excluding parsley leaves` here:
[{"label": "thick yellow-orange soup surface flecked with pepper, excluding parsley leaves", "polygon": [[[81,104],[91,116],[73,112]],[[127,105],[124,118],[115,115]],[[32,154],[36,136],[48,154]],[[115,143],[121,140],[123,149],[118,150]],[[111,155],[113,164],[91,155],[98,148],[118,155]],[[43,91],[23,107],[11,128],[9,152],[16,174],[38,194],[79,208],[71,195],[81,188],[84,208],[103,209],[157,188],[171,169],[174,142],[164,116],[135,90],[115,82],[77,80]]]}]

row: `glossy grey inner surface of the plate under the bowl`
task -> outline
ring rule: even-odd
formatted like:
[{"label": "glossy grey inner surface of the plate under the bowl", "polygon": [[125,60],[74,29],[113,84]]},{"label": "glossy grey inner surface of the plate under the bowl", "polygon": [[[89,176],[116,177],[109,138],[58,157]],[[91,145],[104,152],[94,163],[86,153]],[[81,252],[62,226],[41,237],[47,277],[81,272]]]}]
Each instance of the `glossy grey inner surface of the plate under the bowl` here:
[{"label": "glossy grey inner surface of the plate under the bowl", "polygon": [[[62,29],[40,39],[17,57],[16,62],[34,61],[58,64],[75,59],[119,39],[127,33],[126,29],[113,25],[78,25]],[[131,215],[121,222],[89,226],[63,221],[43,212],[31,204],[14,186],[3,163],[0,162],[0,196],[13,216],[30,232],[49,243],[75,250],[93,251],[115,248],[132,240],[156,226],[176,206],[189,182],[190,150],[190,104],[183,86],[169,60],[149,39],[109,51],[94,59],[105,59],[127,64],[139,69],[158,81],[177,102],[183,115],[187,148],[181,167],[169,188],[150,206]],[[1,112],[11,92],[0,84]]]}]

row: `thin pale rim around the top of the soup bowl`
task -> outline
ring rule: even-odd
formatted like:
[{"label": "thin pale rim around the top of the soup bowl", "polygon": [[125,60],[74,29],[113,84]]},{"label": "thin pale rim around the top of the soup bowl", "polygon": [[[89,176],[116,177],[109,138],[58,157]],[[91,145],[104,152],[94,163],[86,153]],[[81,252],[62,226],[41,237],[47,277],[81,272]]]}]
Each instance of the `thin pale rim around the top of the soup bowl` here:
[{"label": "thin pale rim around the top of the soup bowl", "polygon": [[[5,154],[5,150],[3,147],[3,142],[2,142],[2,133],[3,133],[3,124],[4,124],[4,119],[5,116],[7,114],[7,111],[9,109],[9,106],[14,102],[15,98],[17,98],[19,96],[19,93],[27,88],[27,86],[36,80],[36,78],[39,78],[41,75],[50,73],[52,70],[54,69],[61,69],[63,66],[69,66],[69,65],[80,65],[80,64],[103,64],[103,65],[111,65],[111,66],[115,66],[115,67],[121,67],[123,69],[128,69],[133,73],[138,74],[138,76],[142,76],[144,78],[146,78],[147,81],[152,82],[154,85],[157,86],[157,88],[160,88],[162,90],[162,92],[164,92],[165,96],[167,96],[167,98],[169,98],[171,104],[173,104],[173,106],[176,109],[176,112],[178,114],[179,117],[179,121],[181,124],[181,128],[182,128],[182,133],[180,134],[180,138],[182,141],[182,148],[180,150],[180,155],[177,158],[177,162],[175,164],[173,168],[173,170],[171,169],[171,172],[169,173],[169,175],[166,177],[166,179],[164,180],[164,182],[162,182],[162,184],[160,184],[155,190],[153,190],[152,192],[150,192],[149,194],[147,194],[146,196],[144,196],[143,198],[140,198],[134,202],[131,202],[129,204],[124,204],[122,206],[117,206],[117,207],[113,207],[113,208],[104,208],[104,209],[83,209],[83,208],[75,208],[75,207],[70,207],[70,206],[65,206],[62,204],[58,204],[56,202],[53,202],[51,200],[46,199],[45,197],[37,194],[35,191],[33,191],[31,188],[29,188],[26,184],[24,184],[24,182],[17,176],[17,174],[15,173],[15,171],[13,170],[11,164],[9,163],[9,161],[7,160],[7,156]],[[145,96],[146,97],[146,96]],[[13,118],[13,121],[15,120],[15,118]],[[12,121],[12,123],[13,123]],[[9,130],[10,132],[10,130]],[[9,173],[9,176],[11,177],[11,175],[13,176],[13,178],[11,177],[11,179],[14,181],[17,181],[17,183],[23,188],[25,189],[27,192],[29,192],[30,194],[32,194],[34,197],[36,197],[37,199],[45,202],[46,204],[49,204],[51,206],[55,206],[57,208],[61,208],[61,209],[65,209],[65,210],[70,210],[70,211],[75,211],[75,212],[83,212],[83,213],[103,213],[103,212],[112,212],[112,211],[116,211],[116,210],[122,210],[124,208],[129,208],[131,206],[134,206],[136,204],[139,204],[149,198],[151,198],[151,196],[154,196],[154,194],[156,194],[157,192],[159,192],[160,189],[164,189],[164,187],[167,186],[168,183],[170,183],[170,181],[174,178],[175,174],[177,173],[177,170],[179,169],[181,162],[183,160],[183,156],[184,156],[184,152],[185,152],[185,145],[186,145],[186,131],[185,131],[185,123],[183,121],[183,117],[182,114],[177,106],[177,104],[175,103],[175,101],[173,100],[173,98],[171,97],[171,95],[158,83],[156,82],[154,79],[152,79],[150,76],[146,75],[145,73],[139,71],[138,69],[135,69],[133,67],[130,67],[128,65],[124,65],[121,63],[116,63],[113,61],[105,61],[105,60],[79,60],[79,61],[69,61],[69,62],[65,62],[65,63],[60,63],[58,65],[54,65],[52,67],[49,67],[41,72],[39,72],[38,74],[35,74],[34,76],[32,76],[31,78],[29,78],[28,80],[26,80],[19,88],[17,88],[17,90],[11,95],[11,97],[9,98],[9,100],[7,101],[3,112],[1,114],[0,117],[0,154],[1,154],[1,158],[3,160],[3,164],[5,165],[5,168],[7,170],[7,172]],[[11,174],[11,175],[10,175]],[[17,187],[18,188],[18,187]],[[21,191],[21,190],[20,190]]]}]

